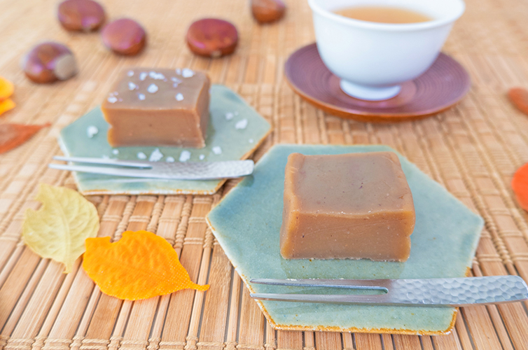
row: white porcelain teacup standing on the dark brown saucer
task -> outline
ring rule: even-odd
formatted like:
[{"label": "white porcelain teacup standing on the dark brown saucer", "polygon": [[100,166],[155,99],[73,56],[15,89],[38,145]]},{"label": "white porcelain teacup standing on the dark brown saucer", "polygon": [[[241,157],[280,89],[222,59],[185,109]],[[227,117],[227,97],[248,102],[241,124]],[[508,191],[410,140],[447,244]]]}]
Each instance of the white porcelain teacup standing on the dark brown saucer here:
[{"label": "white porcelain teacup standing on the dark brown saucer", "polygon": [[[400,84],[422,75],[435,61],[462,0],[308,0],[317,49],[352,97],[378,101],[400,92]],[[388,24],[353,20],[333,13],[354,6],[390,6],[423,13],[433,20]]]}]

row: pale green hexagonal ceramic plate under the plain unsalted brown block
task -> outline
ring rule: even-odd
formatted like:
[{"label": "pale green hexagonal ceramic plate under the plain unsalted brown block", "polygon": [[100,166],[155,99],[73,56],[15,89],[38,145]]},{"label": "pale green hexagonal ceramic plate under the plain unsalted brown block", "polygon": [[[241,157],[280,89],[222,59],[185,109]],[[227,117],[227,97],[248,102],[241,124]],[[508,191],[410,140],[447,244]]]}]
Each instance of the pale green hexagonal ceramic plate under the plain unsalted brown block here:
[{"label": "pale green hexagonal ceramic plate under the plain unsalted brown block", "polygon": [[[254,293],[358,293],[335,288],[293,288],[249,283],[253,278],[419,279],[466,276],[483,221],[401,155],[416,209],[406,262],[285,260],[279,253],[284,167],[288,155],[394,151],[387,146],[277,145],[209,213],[216,239]],[[438,335],[450,332],[453,307],[390,307],[260,301],[282,330],[334,330]]]}]

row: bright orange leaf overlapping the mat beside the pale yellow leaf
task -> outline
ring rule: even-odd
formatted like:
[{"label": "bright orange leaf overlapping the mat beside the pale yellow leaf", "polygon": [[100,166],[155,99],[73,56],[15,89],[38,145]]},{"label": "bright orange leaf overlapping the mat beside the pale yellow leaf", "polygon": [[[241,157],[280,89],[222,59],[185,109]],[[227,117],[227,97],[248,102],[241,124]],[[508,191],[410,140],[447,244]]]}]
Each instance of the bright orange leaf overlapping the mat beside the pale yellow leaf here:
[{"label": "bright orange leaf overlapping the mat beside the pale yellow leaf", "polygon": [[139,300],[180,289],[209,288],[190,281],[169,242],[147,231],[123,232],[114,243],[110,237],[86,239],[83,268],[103,293],[119,299]]}]

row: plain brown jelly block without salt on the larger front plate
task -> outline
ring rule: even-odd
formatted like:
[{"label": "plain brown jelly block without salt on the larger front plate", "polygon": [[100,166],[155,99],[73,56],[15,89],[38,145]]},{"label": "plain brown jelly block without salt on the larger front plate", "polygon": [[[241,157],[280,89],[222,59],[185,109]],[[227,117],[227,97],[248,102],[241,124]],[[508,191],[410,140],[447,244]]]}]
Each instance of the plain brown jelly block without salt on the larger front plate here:
[{"label": "plain brown jelly block without salt on the larger front plate", "polygon": [[283,258],[405,261],[414,227],[412,195],[395,153],[289,156]]}]

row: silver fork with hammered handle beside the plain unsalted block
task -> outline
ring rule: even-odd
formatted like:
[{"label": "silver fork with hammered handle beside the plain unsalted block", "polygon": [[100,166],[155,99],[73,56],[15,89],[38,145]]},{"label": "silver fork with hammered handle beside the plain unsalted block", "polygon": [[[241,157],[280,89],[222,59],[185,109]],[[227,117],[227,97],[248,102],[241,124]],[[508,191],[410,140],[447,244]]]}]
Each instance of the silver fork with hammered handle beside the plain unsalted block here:
[{"label": "silver fork with hammered handle beside the plain unsalted block", "polygon": [[251,279],[273,286],[330,287],[382,290],[378,295],[251,293],[260,300],[377,304],[425,307],[464,307],[528,299],[520,276],[485,276],[453,279]]}]

